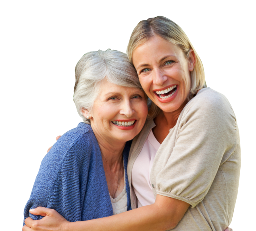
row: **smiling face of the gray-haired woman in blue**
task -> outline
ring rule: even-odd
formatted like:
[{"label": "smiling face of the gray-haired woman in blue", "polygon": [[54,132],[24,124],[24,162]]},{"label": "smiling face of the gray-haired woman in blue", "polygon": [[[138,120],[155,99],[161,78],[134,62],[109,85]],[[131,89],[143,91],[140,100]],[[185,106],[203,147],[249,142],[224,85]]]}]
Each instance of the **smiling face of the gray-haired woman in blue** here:
[{"label": "smiling face of the gray-haired woman in blue", "polygon": [[133,139],[142,130],[148,114],[144,92],[111,84],[106,79],[100,84],[90,112],[94,133],[109,142]]}]

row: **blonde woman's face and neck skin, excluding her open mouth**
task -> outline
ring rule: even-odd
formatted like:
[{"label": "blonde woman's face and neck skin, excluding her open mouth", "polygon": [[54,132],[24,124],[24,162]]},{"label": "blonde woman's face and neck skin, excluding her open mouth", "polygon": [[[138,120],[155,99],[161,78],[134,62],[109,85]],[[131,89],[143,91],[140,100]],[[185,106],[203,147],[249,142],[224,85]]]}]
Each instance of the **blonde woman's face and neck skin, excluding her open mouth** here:
[{"label": "blonde woman's face and neck skin, excluding her open mouth", "polygon": [[[152,129],[158,142],[162,143],[187,104],[191,86],[190,72],[196,64],[195,54],[191,50],[186,59],[179,47],[155,36],[137,47],[132,59],[142,88],[152,102],[162,109],[154,119],[156,127]],[[170,85],[177,85],[177,91],[171,101],[160,102],[161,99],[154,92]]]}]

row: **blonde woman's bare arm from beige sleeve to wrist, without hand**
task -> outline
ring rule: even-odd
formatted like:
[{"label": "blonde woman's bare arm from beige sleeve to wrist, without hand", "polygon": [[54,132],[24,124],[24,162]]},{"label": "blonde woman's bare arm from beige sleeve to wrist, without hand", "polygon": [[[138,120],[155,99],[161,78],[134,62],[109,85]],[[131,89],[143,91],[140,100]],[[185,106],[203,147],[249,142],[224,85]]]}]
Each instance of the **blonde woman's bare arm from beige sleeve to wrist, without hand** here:
[{"label": "blonde woman's bare arm from beige sleeve to wrist, without hand", "polygon": [[[173,229],[182,219],[189,204],[167,196],[156,196],[156,202],[125,213],[71,224],[74,231],[165,231]],[[122,224],[122,225],[120,225]],[[85,229],[86,227],[86,229]]]}]

